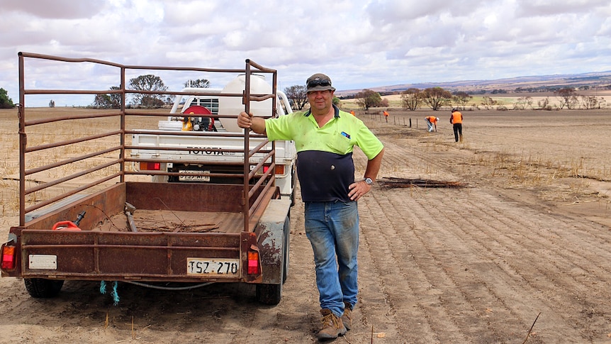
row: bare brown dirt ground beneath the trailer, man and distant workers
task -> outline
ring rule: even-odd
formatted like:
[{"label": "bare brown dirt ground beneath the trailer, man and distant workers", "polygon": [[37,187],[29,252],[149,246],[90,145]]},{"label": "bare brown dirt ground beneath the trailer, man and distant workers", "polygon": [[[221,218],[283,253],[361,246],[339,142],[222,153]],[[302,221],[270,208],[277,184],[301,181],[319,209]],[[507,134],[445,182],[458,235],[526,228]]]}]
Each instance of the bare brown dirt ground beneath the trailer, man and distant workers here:
[{"label": "bare brown dirt ground beneath the trailer, man and distant workers", "polygon": [[[16,111],[1,112],[4,140]],[[359,303],[336,343],[611,343],[611,113],[465,111],[359,114],[386,145],[379,181],[359,201]],[[436,133],[425,116],[439,116]],[[408,123],[412,123],[410,127]],[[16,143],[4,143],[0,238]],[[364,155],[354,154],[359,174]],[[10,171],[9,171],[10,170]],[[9,172],[11,173],[9,173]],[[405,187],[388,187],[398,179]],[[464,187],[410,187],[410,180]],[[254,288],[184,292],[66,282],[33,299],[0,279],[0,343],[315,343],[320,326],[303,204],[291,211],[290,271],[278,306]]]}]

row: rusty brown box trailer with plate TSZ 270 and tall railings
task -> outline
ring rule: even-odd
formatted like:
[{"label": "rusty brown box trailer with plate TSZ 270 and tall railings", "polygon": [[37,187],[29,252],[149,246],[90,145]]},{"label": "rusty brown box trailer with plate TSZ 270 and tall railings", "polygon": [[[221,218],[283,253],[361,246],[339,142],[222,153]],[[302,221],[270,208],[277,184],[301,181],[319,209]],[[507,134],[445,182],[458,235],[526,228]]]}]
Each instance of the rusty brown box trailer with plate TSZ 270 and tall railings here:
[{"label": "rusty brown box trailer with plate TSZ 270 and tall railings", "polygon": [[[69,280],[148,287],[175,282],[179,288],[247,283],[256,284],[258,301],[278,304],[288,276],[292,195],[282,196],[276,164],[282,161],[292,173],[294,160],[276,160],[276,143],[248,131],[140,128],[141,123],[155,123],[151,118],[167,121],[176,113],[130,108],[129,96],[190,94],[125,86],[129,72],[142,70],[240,74],[242,91],[210,95],[232,98],[245,111],[252,111],[253,104],[255,108],[267,104],[256,114],[271,117],[279,116],[276,70],[250,60],[244,69],[223,70],[130,66],[28,52],[19,52],[18,59],[20,211],[18,226],[10,228],[1,246],[3,277],[23,278],[28,293],[37,298],[56,296]],[[28,88],[32,83],[26,78],[26,60],[33,65],[60,65],[53,69],[57,75],[49,78],[61,78],[65,65],[110,68],[116,71],[120,87]],[[268,91],[252,89],[255,74],[271,78]],[[59,115],[56,110],[53,115],[30,118],[26,100],[40,94],[108,94],[121,100],[118,109]],[[235,123],[238,112],[234,107],[208,117]],[[77,133],[59,133],[70,123],[87,124]],[[50,132],[53,135],[47,135]],[[145,144],[141,140],[145,137],[157,143]],[[181,144],[185,138],[213,146],[185,146]],[[291,143],[282,145],[291,150]],[[209,151],[214,154],[206,154]],[[223,170],[190,168],[206,164]]]}]

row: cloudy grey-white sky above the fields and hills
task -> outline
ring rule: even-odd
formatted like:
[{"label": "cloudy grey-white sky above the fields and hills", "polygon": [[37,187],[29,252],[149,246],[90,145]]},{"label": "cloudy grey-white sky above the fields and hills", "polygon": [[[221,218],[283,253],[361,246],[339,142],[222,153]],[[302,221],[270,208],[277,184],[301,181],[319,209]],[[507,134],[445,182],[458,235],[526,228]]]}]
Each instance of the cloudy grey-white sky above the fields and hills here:
[{"label": "cloudy grey-white sky above the fields and hills", "polygon": [[[278,70],[280,89],[315,72],[342,90],[611,70],[608,0],[0,0],[0,13],[0,87],[14,102],[20,51],[172,67],[249,58]],[[62,77],[118,86],[107,73]],[[189,77],[162,79],[178,91]]]}]

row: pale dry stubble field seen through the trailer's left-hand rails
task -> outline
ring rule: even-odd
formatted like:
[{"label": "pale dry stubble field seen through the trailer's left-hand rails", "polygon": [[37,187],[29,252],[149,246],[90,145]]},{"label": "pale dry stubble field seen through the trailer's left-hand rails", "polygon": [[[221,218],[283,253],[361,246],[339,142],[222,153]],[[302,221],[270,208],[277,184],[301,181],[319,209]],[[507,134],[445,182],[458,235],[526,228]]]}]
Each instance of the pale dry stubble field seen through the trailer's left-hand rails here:
[{"label": "pale dry stubble field seen through the trailer's left-hand rails", "polygon": [[[106,111],[108,112],[108,111]],[[157,110],[157,113],[167,113],[167,109]],[[82,113],[99,113],[98,110],[77,109],[77,108],[35,108],[26,109],[26,120],[33,121],[40,118],[53,118],[55,116],[76,115]],[[157,117],[136,117],[131,118],[126,126],[128,128],[156,128]],[[4,200],[0,211],[3,216],[13,216],[18,213],[19,207],[19,143],[16,128],[18,128],[18,117],[16,109],[0,111],[0,131],[7,140],[1,143],[4,159],[0,162],[0,172],[4,178],[0,184],[1,196]],[[74,140],[85,138],[91,135],[116,131],[120,128],[119,118],[91,118],[75,119],[70,121],[57,121],[53,123],[40,124],[26,127],[27,147],[33,148],[49,143],[56,143],[62,140]],[[14,131],[11,131],[13,129]],[[126,137],[127,142],[130,136]],[[56,148],[47,148],[35,152],[28,152],[26,155],[26,170],[56,164],[64,160],[79,157],[93,152],[99,152],[107,148],[120,145],[120,135],[112,135],[106,138],[90,140],[84,143],[72,143]],[[69,177],[70,175],[84,172],[89,169],[99,168],[101,165],[118,159],[118,151],[108,152],[103,155],[91,157],[86,160],[60,165],[42,172],[36,172],[26,177],[26,188],[36,187],[40,184],[53,180]],[[130,168],[128,166],[128,168]],[[67,182],[56,186],[47,187],[26,196],[26,206],[36,204],[38,201],[50,199],[57,194],[69,192],[69,190],[82,187],[93,180],[110,176],[119,172],[118,165],[103,167],[94,172],[84,174]],[[91,192],[102,189],[113,184],[115,181],[105,182],[99,187],[94,187]]]}]

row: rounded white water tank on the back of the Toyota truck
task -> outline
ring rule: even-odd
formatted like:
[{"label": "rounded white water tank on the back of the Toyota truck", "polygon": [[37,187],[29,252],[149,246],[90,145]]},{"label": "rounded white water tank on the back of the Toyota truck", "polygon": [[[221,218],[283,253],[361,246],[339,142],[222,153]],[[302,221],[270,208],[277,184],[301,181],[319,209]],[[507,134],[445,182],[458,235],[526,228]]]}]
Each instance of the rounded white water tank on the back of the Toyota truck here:
[{"label": "rounded white water tank on the back of the Toyota truck", "polygon": [[[230,81],[221,93],[242,94],[246,89],[246,76],[239,75]],[[257,74],[250,74],[250,94],[271,94],[271,85],[265,81],[265,77]],[[237,116],[244,111],[245,106],[242,104],[241,96],[220,96],[218,99],[218,114]],[[250,101],[250,112],[254,116],[271,116],[271,98],[264,101]],[[244,130],[237,126],[235,118],[220,118],[220,123],[226,131],[243,132]]]}]

